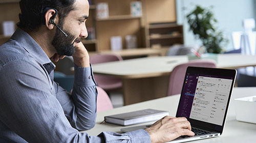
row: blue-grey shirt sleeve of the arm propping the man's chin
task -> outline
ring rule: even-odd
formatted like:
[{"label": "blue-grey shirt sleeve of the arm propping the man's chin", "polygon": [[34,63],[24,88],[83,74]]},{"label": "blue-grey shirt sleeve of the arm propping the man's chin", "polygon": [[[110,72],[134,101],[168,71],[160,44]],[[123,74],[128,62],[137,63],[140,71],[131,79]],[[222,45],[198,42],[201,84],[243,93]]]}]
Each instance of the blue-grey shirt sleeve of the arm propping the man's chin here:
[{"label": "blue-grey shirt sleeve of the arm propping the man's chin", "polygon": [[72,127],[79,131],[94,127],[96,120],[96,82],[91,67],[75,65],[72,95],[54,82],[56,98],[60,102]]}]

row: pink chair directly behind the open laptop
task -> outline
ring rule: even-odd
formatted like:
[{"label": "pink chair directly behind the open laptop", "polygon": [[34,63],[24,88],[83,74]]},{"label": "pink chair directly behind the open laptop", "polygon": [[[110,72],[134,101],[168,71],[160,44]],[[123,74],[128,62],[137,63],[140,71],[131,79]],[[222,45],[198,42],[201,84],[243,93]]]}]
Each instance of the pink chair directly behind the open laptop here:
[{"label": "pink chair directly behind the open laptop", "polygon": [[216,62],[213,60],[192,60],[185,64],[176,66],[170,73],[167,96],[180,94],[183,86],[187,67],[208,67],[216,68]]}]

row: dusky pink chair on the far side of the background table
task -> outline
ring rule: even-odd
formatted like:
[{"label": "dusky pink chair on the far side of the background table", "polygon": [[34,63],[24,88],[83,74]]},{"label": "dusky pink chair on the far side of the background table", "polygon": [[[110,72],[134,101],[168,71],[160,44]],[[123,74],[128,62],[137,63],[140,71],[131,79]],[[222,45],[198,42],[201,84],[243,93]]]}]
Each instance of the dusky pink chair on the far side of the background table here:
[{"label": "dusky pink chair on the far side of the background table", "polygon": [[[122,61],[122,57],[116,54],[93,54],[90,56],[90,62],[92,65],[105,63],[105,62],[113,62],[113,61]],[[106,76],[106,75],[98,75],[95,74],[94,78],[99,87],[101,87],[106,92],[116,90],[122,87],[122,81],[119,78]]]}]

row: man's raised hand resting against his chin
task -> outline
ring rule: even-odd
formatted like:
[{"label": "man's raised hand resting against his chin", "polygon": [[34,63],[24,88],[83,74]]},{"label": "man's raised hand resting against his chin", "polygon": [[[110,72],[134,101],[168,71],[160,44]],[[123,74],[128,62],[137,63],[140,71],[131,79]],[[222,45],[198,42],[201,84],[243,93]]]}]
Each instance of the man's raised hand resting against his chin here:
[{"label": "man's raised hand resting against his chin", "polygon": [[77,43],[75,48],[75,53],[72,55],[74,59],[74,64],[79,67],[90,67],[90,58],[86,47],[82,42]]}]

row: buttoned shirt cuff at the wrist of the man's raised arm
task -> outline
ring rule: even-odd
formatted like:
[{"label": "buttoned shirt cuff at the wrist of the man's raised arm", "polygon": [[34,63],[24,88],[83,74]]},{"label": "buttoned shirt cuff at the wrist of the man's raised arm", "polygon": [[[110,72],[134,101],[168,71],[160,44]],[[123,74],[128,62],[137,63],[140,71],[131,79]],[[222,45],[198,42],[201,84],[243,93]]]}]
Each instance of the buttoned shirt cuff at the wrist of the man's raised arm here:
[{"label": "buttoned shirt cuff at the wrist of the man's raised arm", "polygon": [[93,76],[93,70],[92,66],[90,64],[90,67],[83,68],[78,67],[74,64],[75,69],[75,83],[77,85],[86,85],[86,86],[94,86],[97,85],[94,76]]}]

